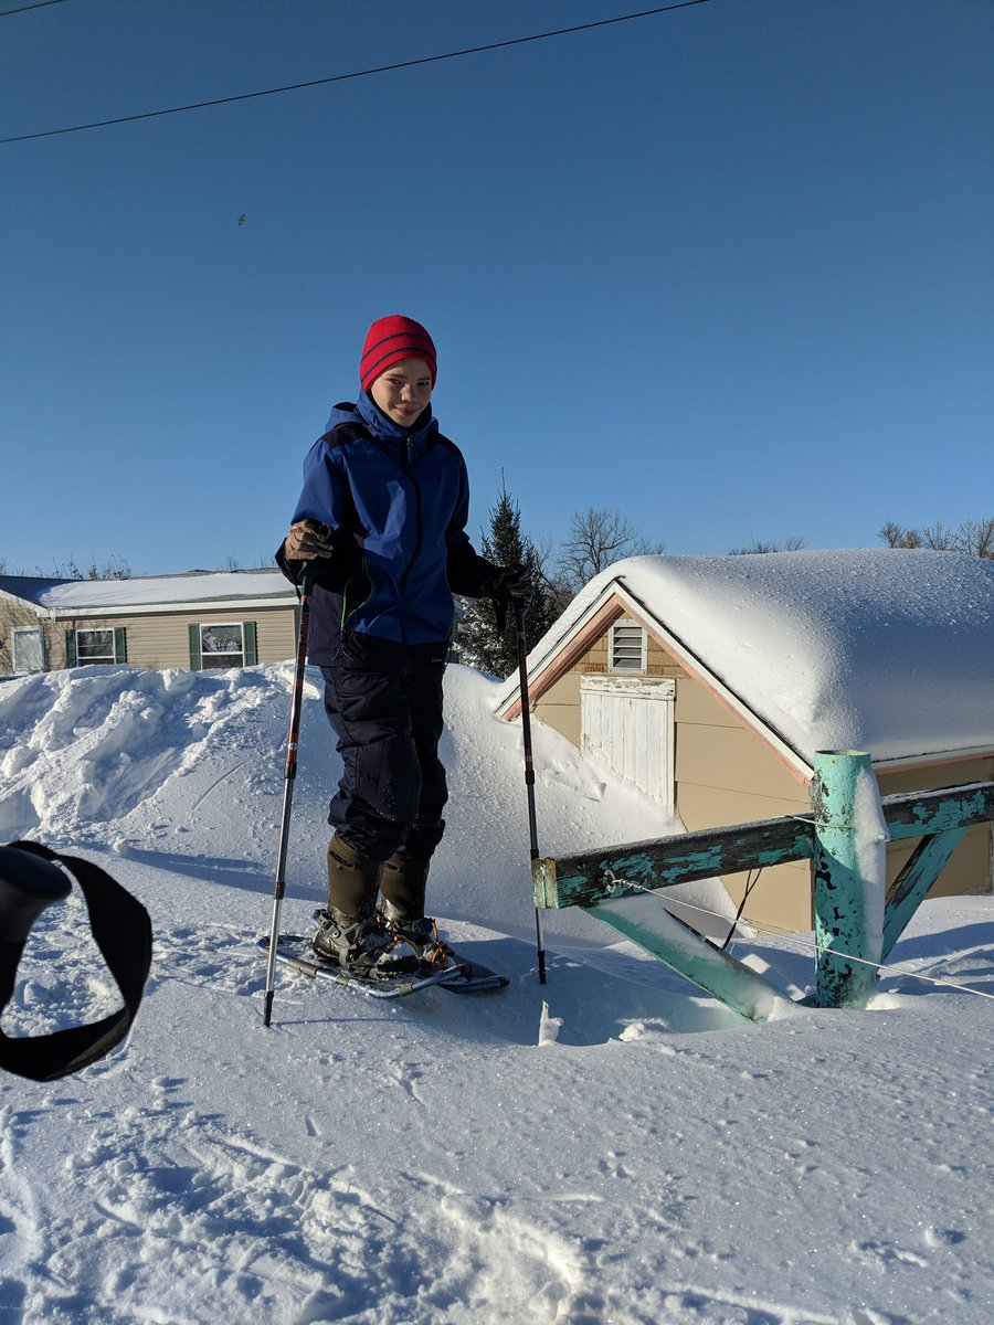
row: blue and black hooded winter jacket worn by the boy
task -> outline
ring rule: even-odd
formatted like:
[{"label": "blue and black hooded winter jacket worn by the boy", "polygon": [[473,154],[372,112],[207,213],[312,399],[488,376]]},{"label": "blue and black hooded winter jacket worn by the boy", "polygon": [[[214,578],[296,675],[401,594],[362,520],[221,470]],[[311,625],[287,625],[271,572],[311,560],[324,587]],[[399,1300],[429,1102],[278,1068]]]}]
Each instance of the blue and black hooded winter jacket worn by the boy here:
[{"label": "blue and black hooded winter jacket worn by the boy", "polygon": [[[309,657],[330,664],[343,631],[400,645],[437,644],[452,628],[452,595],[484,592],[493,575],[465,531],[463,454],[425,411],[402,428],[362,392],[331,411],[304,461],[293,513],[331,529],[333,555],[313,562]],[[277,554],[296,582],[304,568]]]}]

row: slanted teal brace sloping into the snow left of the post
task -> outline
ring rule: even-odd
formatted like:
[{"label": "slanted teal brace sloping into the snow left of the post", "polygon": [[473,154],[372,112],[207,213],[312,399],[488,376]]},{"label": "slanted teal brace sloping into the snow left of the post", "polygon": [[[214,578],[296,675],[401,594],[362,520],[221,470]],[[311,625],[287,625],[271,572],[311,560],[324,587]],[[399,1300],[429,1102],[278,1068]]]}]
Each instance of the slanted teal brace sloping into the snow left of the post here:
[{"label": "slanted teal brace sloping into the snow left of the post", "polygon": [[652,925],[611,906],[591,906],[590,914],[750,1022],[766,1022],[778,1008],[791,1007],[758,971],[714,947],[663,906],[653,910]]}]

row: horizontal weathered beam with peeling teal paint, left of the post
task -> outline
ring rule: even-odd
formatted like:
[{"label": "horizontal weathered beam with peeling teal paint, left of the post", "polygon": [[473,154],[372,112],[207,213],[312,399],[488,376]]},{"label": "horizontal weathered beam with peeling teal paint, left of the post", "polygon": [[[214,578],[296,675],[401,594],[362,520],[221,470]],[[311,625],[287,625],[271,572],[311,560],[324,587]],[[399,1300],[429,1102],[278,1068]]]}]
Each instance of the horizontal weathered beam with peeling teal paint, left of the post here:
[{"label": "horizontal weathered beam with peeling teal paint, left of the post", "polygon": [[533,864],[535,905],[595,906],[647,888],[672,888],[694,878],[740,873],[804,860],[814,851],[812,820],[804,815],[675,833],[653,841],[600,847]]}]

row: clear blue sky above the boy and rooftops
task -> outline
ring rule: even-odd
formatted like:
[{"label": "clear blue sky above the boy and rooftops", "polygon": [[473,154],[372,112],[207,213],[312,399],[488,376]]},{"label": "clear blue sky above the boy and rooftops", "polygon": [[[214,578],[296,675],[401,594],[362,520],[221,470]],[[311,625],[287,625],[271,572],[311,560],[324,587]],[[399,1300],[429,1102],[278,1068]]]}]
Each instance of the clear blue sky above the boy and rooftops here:
[{"label": "clear blue sky above the boy and rooftops", "polygon": [[[648,8],[23,3],[4,138]],[[0,559],[257,564],[395,311],[474,538],[501,476],[672,554],[994,514],[993,68],[990,0],[708,0],[5,143]]]}]

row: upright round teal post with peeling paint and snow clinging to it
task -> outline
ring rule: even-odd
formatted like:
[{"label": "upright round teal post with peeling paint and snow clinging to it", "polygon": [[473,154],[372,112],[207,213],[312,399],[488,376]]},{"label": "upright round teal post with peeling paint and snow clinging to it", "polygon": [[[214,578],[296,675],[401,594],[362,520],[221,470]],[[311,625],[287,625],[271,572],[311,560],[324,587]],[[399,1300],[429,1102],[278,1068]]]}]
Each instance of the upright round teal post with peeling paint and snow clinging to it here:
[{"label": "upright round teal post with peeling paint and snow clinging to it", "polygon": [[[861,750],[815,754],[811,808],[816,1007],[863,1007],[876,986],[876,967],[865,962],[880,961],[884,881],[867,874],[884,833],[883,812],[872,815],[873,800],[867,799],[864,778],[873,779],[873,770]],[[879,811],[876,779],[869,795],[876,798]]]}]

